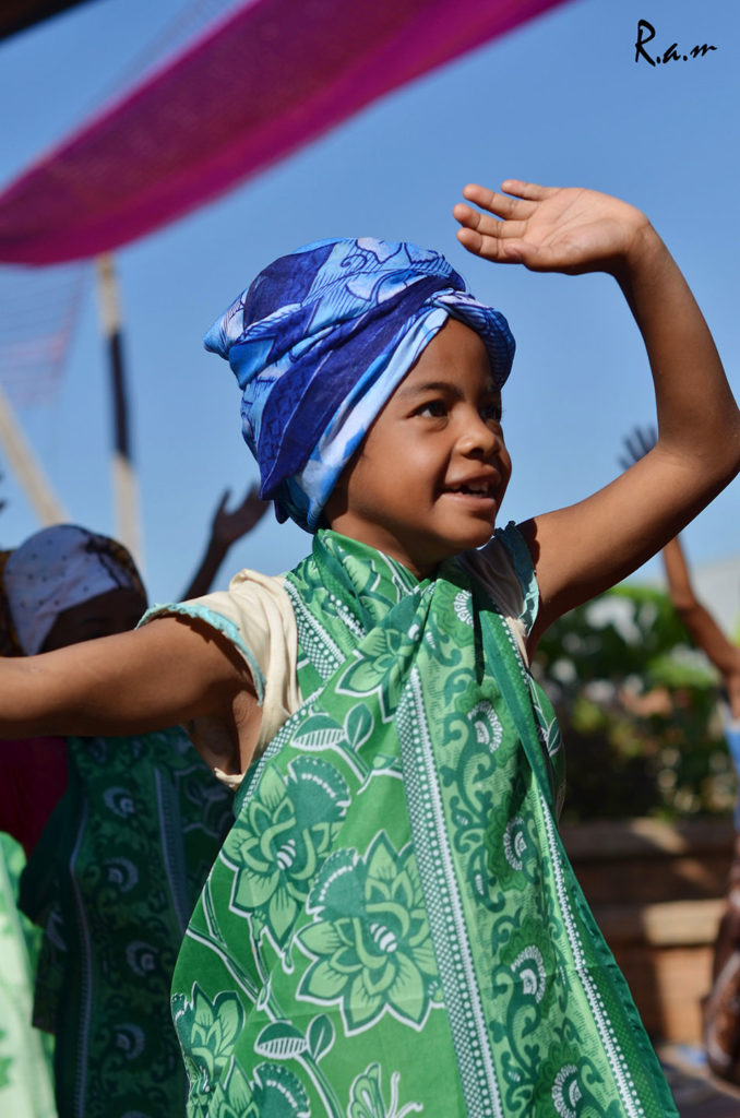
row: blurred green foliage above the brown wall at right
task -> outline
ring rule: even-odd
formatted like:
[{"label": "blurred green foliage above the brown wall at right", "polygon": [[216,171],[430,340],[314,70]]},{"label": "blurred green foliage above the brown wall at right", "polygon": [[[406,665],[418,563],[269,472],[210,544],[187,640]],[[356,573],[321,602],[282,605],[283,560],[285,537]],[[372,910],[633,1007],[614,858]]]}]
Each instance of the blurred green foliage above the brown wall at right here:
[{"label": "blurred green foliage above the brown wall at right", "polygon": [[567,614],[533,673],[563,732],[563,819],[732,813],[718,676],[662,590],[619,586]]}]

